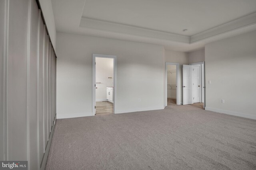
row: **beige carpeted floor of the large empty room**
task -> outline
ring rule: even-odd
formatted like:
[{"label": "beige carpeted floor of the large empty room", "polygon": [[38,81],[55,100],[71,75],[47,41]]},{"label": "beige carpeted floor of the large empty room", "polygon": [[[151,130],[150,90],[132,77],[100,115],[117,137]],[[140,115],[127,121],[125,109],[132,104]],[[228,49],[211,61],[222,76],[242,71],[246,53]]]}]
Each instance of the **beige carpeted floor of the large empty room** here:
[{"label": "beige carpeted floor of the large empty room", "polygon": [[46,170],[256,169],[256,120],[198,107],[58,119]]}]

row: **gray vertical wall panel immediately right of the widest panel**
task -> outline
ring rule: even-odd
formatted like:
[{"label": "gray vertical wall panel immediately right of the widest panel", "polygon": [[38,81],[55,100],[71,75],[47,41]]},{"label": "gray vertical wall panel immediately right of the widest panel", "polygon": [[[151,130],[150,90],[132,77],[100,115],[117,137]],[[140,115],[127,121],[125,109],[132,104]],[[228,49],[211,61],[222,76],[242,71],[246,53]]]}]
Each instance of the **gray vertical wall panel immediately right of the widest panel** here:
[{"label": "gray vertical wall panel immediately right of the widest panel", "polygon": [[29,44],[29,165],[30,169],[37,169],[38,165],[38,138],[37,138],[37,72],[38,72],[38,20],[39,9],[36,1],[32,0],[30,10],[30,44]]}]

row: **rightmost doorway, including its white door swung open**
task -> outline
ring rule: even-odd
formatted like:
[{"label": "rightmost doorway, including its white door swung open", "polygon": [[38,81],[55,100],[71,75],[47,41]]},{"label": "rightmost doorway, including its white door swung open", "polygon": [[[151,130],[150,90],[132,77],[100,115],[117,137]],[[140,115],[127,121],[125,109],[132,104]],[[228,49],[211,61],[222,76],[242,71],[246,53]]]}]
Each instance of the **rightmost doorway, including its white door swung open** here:
[{"label": "rightmost doorway, including its white door swung open", "polygon": [[183,65],[183,105],[205,108],[204,62]]}]

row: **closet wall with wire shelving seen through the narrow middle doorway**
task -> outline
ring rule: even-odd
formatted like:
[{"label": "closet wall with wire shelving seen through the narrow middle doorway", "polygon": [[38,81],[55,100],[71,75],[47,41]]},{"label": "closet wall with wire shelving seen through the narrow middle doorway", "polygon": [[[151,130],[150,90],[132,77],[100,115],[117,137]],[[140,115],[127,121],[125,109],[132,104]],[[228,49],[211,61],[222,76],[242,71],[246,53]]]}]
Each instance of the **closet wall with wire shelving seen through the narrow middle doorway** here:
[{"label": "closet wall with wire shelving seen through the narrow middle doorway", "polygon": [[176,65],[167,65],[167,97],[176,99]]}]

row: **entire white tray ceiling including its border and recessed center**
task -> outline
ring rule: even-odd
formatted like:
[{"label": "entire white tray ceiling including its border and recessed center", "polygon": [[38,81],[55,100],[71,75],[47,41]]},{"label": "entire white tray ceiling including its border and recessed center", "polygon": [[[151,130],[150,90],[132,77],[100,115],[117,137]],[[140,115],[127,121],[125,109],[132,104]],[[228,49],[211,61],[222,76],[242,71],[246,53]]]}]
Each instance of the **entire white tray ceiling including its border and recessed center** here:
[{"label": "entire white tray ceiling including its border and recessed center", "polygon": [[57,32],[175,51],[256,29],[256,0],[52,0],[52,6]]}]

